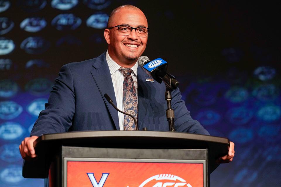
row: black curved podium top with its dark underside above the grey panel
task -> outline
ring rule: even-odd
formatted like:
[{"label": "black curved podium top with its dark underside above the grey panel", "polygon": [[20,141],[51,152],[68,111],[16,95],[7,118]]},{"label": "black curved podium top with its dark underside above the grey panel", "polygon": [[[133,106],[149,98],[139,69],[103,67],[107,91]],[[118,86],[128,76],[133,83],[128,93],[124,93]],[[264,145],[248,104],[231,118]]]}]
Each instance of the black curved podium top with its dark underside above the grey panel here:
[{"label": "black curved podium top with its dark underside above the grey panel", "polygon": [[[133,142],[129,143],[128,141]],[[23,176],[47,177],[48,155],[55,154],[61,146],[133,149],[208,149],[210,168],[218,165],[215,160],[228,152],[229,140],[216,136],[164,131],[75,131],[45,134],[34,142],[38,159],[25,161]],[[45,156],[44,156],[45,155]]]}]

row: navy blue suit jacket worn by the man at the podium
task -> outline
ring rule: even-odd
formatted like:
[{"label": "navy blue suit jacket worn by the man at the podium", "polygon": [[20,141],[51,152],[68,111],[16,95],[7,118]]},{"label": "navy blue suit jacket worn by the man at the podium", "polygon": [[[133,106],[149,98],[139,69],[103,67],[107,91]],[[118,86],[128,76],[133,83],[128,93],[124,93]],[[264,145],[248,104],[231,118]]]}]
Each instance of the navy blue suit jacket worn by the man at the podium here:
[{"label": "navy blue suit jacket worn by the man at the podium", "polygon": [[[169,131],[165,84],[146,82],[145,78],[151,77],[138,67],[138,128]],[[107,93],[116,105],[105,53],[97,58],[64,65],[55,81],[46,109],[40,112],[31,136],[67,131],[120,130],[118,113],[104,98]],[[176,131],[209,135],[189,115],[179,89],[172,91],[172,108]]]}]

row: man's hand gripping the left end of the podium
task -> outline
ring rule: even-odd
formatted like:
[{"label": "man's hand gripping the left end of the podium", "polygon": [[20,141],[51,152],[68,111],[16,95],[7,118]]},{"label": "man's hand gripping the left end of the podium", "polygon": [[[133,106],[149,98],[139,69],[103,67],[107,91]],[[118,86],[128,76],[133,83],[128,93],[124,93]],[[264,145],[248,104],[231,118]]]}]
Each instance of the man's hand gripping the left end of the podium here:
[{"label": "man's hand gripping the left end of the podium", "polygon": [[21,157],[23,157],[24,160],[30,160],[31,158],[37,157],[37,155],[35,155],[35,149],[33,147],[33,142],[37,138],[38,136],[26,137],[21,142],[19,148],[20,148]]}]

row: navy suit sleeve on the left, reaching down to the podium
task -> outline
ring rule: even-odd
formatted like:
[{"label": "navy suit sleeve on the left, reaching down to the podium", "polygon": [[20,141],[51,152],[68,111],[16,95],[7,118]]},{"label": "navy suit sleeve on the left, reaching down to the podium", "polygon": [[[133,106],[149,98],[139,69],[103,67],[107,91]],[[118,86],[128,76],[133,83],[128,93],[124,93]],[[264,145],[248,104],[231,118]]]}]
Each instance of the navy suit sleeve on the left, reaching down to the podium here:
[{"label": "navy suit sleeve on the left, reaching down to the podium", "polygon": [[40,112],[30,136],[68,131],[75,111],[75,93],[73,76],[67,65],[61,67],[45,108]]}]

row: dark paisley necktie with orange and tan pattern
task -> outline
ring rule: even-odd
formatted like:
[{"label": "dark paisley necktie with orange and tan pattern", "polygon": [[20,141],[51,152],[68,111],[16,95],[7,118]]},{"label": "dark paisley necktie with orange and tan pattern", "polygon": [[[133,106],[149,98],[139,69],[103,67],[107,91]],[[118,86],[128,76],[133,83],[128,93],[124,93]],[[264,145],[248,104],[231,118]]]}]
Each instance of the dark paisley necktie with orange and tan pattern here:
[{"label": "dark paisley necktie with orange and tan pattern", "polygon": [[[138,122],[138,102],[136,95],[136,88],[131,76],[133,70],[131,68],[119,68],[119,71],[125,76],[123,81],[123,101],[124,112],[134,116]],[[124,114],[124,130],[133,131],[136,130],[136,124],[131,116]]]}]

